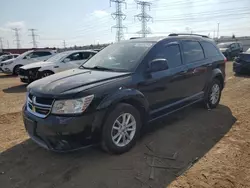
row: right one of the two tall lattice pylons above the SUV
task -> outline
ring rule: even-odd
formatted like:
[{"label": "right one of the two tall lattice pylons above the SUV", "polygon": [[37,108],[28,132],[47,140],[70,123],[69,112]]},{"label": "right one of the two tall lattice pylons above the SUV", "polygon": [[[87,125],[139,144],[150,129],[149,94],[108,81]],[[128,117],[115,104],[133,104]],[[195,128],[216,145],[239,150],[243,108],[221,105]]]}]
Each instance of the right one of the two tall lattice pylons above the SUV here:
[{"label": "right one of the two tall lattice pylons above the SUV", "polygon": [[142,34],[142,37],[147,37],[147,34],[151,33],[148,30],[147,22],[150,20],[153,21],[153,18],[147,14],[147,8],[150,10],[152,3],[146,1],[136,1],[137,7],[141,6],[141,13],[135,15],[135,17],[141,22],[141,31],[138,31],[139,34]]}]

